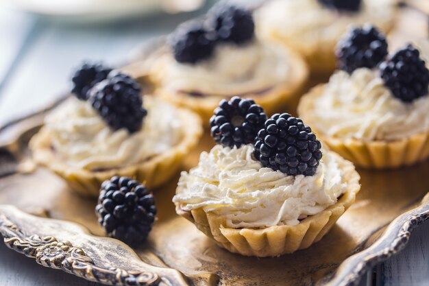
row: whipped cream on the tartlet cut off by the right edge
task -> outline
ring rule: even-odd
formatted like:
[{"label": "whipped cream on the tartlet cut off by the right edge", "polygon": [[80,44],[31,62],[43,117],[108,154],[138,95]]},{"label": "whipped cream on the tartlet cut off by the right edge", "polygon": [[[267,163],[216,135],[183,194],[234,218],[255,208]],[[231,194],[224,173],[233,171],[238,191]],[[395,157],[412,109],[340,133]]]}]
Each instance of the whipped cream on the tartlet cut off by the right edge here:
[{"label": "whipped cream on the tartlet cut off by the right edge", "polygon": [[336,71],[313,106],[312,126],[328,136],[393,141],[429,130],[429,96],[402,102],[378,70]]}]

